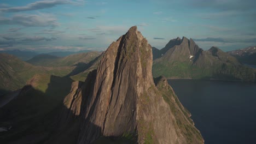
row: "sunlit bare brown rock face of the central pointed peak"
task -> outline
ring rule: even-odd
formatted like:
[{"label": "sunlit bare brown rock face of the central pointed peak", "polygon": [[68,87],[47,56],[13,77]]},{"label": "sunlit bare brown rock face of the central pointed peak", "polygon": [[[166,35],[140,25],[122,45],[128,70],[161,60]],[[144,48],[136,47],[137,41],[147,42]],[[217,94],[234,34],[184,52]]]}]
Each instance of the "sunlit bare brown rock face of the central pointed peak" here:
[{"label": "sunlit bare brown rock face of the central pointed peak", "polygon": [[[71,111],[83,107],[77,143],[124,134],[135,135],[138,143],[145,143],[148,135],[155,143],[187,143],[185,132],[181,133],[174,122],[177,118],[193,125],[183,118],[182,110],[173,113],[158,91],[152,76],[152,57],[152,47],[137,27],[131,27],[108,47],[97,70],[87,77],[83,89],[78,89],[82,92],[74,96],[77,101],[65,105]],[[178,107],[178,101],[171,103]],[[177,113],[181,117],[175,117]]]}]

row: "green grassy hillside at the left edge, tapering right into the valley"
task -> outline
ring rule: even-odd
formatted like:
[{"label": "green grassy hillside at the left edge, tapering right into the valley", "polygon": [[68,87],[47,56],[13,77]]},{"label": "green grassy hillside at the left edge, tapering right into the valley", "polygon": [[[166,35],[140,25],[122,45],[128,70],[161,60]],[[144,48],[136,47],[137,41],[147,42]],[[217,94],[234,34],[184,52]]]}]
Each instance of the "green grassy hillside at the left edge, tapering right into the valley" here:
[{"label": "green grassy hillside at the left edge, tapering right into the valley", "polygon": [[0,67],[0,89],[2,91],[19,89],[36,74],[65,76],[74,69],[74,67],[36,67],[5,53],[0,53]]}]

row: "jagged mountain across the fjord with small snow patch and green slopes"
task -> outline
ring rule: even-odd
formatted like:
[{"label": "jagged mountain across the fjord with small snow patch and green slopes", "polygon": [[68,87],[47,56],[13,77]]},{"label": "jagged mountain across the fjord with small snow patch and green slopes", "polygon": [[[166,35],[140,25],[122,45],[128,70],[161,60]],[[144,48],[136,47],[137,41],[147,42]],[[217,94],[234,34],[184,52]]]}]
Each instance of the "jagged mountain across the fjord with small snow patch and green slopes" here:
[{"label": "jagged mountain across the fjord with small snow patch and green slopes", "polygon": [[182,40],[173,39],[160,51],[166,52],[154,60],[154,76],[255,81],[254,69],[245,67],[235,57],[218,47],[203,51],[193,39],[188,40],[185,37]]}]

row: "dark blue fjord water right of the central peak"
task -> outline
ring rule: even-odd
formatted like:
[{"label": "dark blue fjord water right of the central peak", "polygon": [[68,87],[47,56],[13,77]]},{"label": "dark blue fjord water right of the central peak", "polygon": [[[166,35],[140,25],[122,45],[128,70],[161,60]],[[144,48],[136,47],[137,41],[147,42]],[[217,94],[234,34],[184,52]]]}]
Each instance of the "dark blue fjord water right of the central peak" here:
[{"label": "dark blue fjord water right of the central peak", "polygon": [[256,83],[168,80],[206,144],[256,143]]}]

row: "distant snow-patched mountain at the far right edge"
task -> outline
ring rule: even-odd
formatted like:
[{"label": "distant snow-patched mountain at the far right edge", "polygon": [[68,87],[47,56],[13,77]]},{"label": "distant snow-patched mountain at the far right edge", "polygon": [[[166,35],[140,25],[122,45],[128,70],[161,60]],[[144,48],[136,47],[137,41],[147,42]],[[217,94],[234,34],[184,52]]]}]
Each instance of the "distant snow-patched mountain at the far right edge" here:
[{"label": "distant snow-patched mountain at the far right edge", "polygon": [[256,65],[256,46],[229,51],[228,53],[236,57],[241,63]]}]

